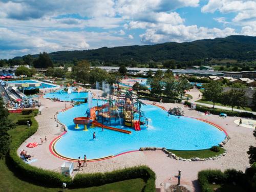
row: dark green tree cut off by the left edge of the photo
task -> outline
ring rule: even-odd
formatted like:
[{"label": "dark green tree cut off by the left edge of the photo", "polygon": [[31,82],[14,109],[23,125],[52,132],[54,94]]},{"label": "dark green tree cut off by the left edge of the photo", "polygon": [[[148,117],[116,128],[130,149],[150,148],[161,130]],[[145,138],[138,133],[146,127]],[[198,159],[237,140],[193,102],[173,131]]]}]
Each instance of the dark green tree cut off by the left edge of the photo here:
[{"label": "dark green tree cut off by the left edge of the photo", "polygon": [[8,119],[9,112],[4,108],[3,100],[0,99],[0,158],[8,151],[10,146],[10,136],[8,130],[14,128],[14,124]]}]

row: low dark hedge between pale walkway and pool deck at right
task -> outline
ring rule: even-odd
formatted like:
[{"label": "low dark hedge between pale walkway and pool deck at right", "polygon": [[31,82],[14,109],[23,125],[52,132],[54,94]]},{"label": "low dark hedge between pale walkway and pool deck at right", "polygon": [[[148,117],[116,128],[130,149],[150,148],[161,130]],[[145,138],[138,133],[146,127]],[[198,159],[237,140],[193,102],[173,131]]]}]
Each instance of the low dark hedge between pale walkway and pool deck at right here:
[{"label": "low dark hedge between pale walkway and pool deck at right", "polygon": [[[191,107],[191,103],[188,102],[188,101],[185,101],[184,104]],[[214,114],[214,115],[220,115],[221,113],[225,113],[225,114],[227,114],[227,116],[256,118],[256,115],[253,115],[252,113],[249,113],[249,112],[238,112],[238,111],[228,111],[228,110],[217,109],[217,108],[215,108],[215,109],[214,108],[207,108],[207,106],[201,106],[201,105],[197,105],[196,110],[200,111],[200,112],[208,111],[208,112],[210,112],[211,114]]]}]

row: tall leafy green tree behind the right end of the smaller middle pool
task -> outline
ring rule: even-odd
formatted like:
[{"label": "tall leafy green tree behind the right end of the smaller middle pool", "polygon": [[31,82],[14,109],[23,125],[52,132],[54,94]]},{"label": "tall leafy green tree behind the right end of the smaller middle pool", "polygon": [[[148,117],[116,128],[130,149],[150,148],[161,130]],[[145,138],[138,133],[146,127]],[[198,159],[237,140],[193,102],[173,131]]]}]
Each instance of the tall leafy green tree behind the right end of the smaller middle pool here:
[{"label": "tall leafy green tree behind the right end of the smaller middle pool", "polygon": [[81,60],[73,68],[74,79],[86,84],[89,82],[90,63],[87,60]]}]

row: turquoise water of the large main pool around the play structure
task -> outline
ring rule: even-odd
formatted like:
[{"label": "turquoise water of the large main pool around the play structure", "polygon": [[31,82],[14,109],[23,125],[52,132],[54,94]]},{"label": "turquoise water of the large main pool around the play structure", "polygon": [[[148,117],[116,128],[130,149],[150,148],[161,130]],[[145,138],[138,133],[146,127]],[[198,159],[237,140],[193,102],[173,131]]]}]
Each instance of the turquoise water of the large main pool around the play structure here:
[{"label": "turquoise water of the large main pool around the play structure", "polygon": [[[92,105],[96,106],[97,100],[93,100]],[[217,145],[226,136],[215,126],[197,119],[167,117],[166,111],[154,105],[142,106],[150,123],[148,128],[143,126],[141,131],[120,126],[119,120],[112,121],[111,126],[132,131],[130,135],[106,129],[102,132],[99,127],[89,128],[89,131],[85,132],[82,131],[83,125],[79,125],[78,130],[74,129],[73,118],[86,116],[87,109],[88,103],[84,103],[58,114],[58,119],[68,127],[68,132],[55,144],[55,150],[59,154],[76,159],[86,154],[88,159],[94,159],[148,146],[173,150],[203,150]],[[96,133],[96,140],[93,140],[93,132]]]}]

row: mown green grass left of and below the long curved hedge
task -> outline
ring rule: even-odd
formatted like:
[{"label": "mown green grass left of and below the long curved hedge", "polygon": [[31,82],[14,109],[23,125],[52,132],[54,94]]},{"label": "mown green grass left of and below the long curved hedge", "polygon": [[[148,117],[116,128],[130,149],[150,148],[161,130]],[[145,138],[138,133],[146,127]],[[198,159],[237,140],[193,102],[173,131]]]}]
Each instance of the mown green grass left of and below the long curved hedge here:
[{"label": "mown green grass left of and below the long curved hedge", "polygon": [[[24,117],[31,117],[32,115],[22,115],[12,113],[9,115],[9,119],[13,122],[17,122],[18,119]],[[23,135],[23,132],[27,131],[27,125],[18,125],[15,129],[10,130],[8,133],[12,138],[19,137]],[[26,181],[26,176],[22,173],[15,173],[9,169],[5,159],[0,160],[0,191],[61,191],[61,188],[48,188],[44,186],[38,186]],[[22,179],[21,179],[22,178]],[[24,179],[23,179],[24,178]],[[46,184],[47,185],[47,184]],[[66,191],[85,191],[85,192],[133,192],[133,191],[142,191],[142,188],[145,186],[143,179],[131,179],[111,184],[106,184],[97,187],[89,188],[78,188],[78,189],[67,189]]]}]

